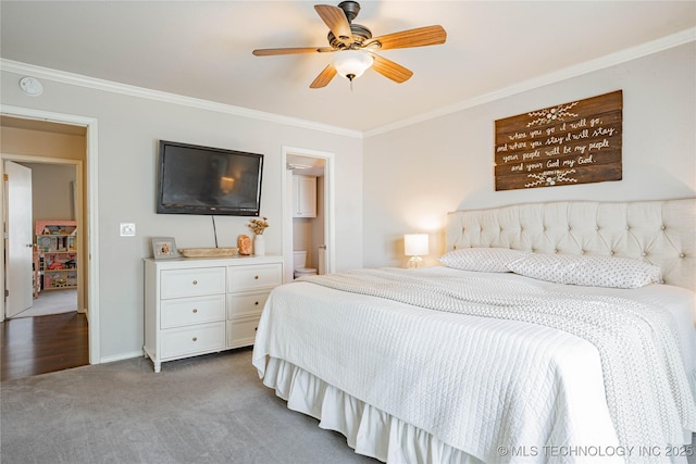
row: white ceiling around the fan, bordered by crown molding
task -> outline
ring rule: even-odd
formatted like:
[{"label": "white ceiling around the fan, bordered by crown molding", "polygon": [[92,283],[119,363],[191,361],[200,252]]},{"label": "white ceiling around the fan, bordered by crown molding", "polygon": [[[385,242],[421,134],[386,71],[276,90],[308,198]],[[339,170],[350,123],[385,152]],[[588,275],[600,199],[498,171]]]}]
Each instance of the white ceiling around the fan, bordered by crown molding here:
[{"label": "white ceiling around the fan, bordered by crown molding", "polygon": [[[148,89],[371,130],[499,92],[696,26],[695,1],[362,1],[374,36],[440,24],[440,46],[386,50],[413,71],[369,70],[310,89],[328,54],[315,1],[7,1],[1,58]],[[328,4],[337,4],[326,2]],[[693,33],[693,32],[692,32]]]}]

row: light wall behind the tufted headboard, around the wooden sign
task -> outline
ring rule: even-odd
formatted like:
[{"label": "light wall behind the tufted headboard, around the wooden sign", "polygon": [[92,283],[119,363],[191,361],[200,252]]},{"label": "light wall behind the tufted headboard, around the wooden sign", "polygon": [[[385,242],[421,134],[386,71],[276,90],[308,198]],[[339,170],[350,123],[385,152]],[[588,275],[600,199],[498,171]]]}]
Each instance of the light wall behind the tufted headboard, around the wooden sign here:
[{"label": "light wall behind the tufted headboard, around the wooden sign", "polygon": [[[403,265],[403,234],[445,251],[446,213],[554,200],[624,201],[696,196],[696,43],[655,53],[364,142],[363,262]],[[495,121],[623,89],[623,179],[495,191]]]}]

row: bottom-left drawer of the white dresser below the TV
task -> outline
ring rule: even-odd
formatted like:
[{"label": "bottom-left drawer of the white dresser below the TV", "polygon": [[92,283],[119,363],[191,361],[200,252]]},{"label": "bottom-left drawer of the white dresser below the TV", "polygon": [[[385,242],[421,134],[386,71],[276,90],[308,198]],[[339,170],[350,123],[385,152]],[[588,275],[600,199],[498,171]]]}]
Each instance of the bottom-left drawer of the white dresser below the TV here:
[{"label": "bottom-left drawer of the white dresser below the TV", "polygon": [[225,348],[225,322],[201,324],[191,327],[171,328],[162,331],[162,354],[173,358],[204,353]]}]

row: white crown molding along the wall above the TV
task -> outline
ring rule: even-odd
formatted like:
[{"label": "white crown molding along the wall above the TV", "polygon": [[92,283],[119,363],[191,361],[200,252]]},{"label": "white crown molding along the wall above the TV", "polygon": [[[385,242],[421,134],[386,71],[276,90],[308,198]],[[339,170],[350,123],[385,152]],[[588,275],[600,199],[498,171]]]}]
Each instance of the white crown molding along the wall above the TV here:
[{"label": "white crown molding along the wall above the TV", "polygon": [[250,117],[253,120],[266,121],[270,123],[284,124],[304,129],[320,130],[334,135],[362,138],[362,131],[346,129],[344,127],[331,126],[327,124],[314,123],[312,121],[300,120],[297,117],[282,116],[279,114],[265,113],[263,111],[249,110],[248,108],[235,106],[232,104],[219,103],[210,100],[203,100],[191,97],[184,97],[176,93],[169,93],[160,90],[147,89],[144,87],[130,86],[127,84],[114,83],[105,79],[84,76],[80,74],[67,73],[64,71],[51,70],[49,67],[37,66],[34,64],[22,63],[7,59],[0,59],[0,70],[20,75],[30,75],[57,83],[69,84],[102,90],[113,93],[121,93],[129,97],[144,98],[148,100],[160,101],[164,103],[181,104],[199,110],[214,111],[217,113],[231,114],[234,116]]}]

